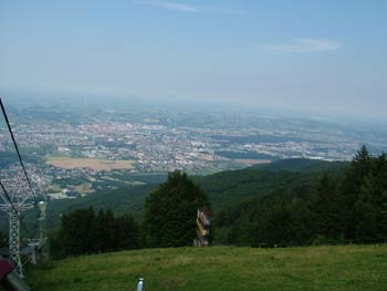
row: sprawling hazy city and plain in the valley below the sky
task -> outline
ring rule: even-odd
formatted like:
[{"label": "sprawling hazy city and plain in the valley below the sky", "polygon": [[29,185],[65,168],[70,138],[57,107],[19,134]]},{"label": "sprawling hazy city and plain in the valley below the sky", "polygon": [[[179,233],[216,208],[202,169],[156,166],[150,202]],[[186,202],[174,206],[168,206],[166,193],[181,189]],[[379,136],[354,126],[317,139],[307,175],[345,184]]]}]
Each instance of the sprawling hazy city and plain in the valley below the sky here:
[{"label": "sprawling hazy city and plain in the valley below the sky", "polygon": [[[365,144],[386,150],[383,128],[326,118],[189,107],[12,104],[13,131],[38,193],[74,198],[144,175],[182,169],[206,175],[284,158],[349,160]],[[0,128],[1,173],[18,189],[18,160]]]}]

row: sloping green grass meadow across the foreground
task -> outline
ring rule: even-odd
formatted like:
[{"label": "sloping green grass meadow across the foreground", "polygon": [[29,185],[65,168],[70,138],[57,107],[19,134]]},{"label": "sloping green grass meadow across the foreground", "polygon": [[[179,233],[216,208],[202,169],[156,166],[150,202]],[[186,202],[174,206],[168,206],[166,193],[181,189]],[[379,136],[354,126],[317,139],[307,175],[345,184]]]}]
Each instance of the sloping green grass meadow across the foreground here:
[{"label": "sloping green grass meadow across the foreground", "polygon": [[55,261],[34,290],[386,290],[387,246],[148,249]]}]

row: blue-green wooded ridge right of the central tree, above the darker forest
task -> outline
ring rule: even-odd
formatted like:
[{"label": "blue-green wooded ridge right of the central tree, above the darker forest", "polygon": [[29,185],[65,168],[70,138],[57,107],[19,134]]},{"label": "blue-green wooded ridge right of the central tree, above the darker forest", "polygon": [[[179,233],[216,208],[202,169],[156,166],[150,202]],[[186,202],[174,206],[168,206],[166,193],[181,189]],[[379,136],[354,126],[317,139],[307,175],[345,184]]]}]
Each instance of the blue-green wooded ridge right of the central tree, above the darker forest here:
[{"label": "blue-green wooded ridge right of the central tree, above the darker forest", "polygon": [[209,194],[212,209],[240,204],[272,193],[279,188],[292,188],[304,184],[315,184],[324,172],[344,169],[348,163],[315,159],[283,159],[268,165],[226,170],[197,177],[196,181]]}]

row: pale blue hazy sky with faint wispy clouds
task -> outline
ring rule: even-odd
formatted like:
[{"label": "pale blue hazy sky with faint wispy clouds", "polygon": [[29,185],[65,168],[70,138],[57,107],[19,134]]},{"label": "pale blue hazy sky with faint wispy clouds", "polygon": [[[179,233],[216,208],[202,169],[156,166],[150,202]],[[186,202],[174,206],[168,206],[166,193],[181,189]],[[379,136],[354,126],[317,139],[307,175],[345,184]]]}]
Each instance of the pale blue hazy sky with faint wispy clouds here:
[{"label": "pale blue hazy sky with faint wispy clouds", "polygon": [[0,0],[0,89],[384,117],[386,15],[385,0]]}]

